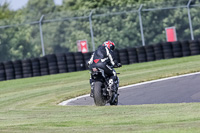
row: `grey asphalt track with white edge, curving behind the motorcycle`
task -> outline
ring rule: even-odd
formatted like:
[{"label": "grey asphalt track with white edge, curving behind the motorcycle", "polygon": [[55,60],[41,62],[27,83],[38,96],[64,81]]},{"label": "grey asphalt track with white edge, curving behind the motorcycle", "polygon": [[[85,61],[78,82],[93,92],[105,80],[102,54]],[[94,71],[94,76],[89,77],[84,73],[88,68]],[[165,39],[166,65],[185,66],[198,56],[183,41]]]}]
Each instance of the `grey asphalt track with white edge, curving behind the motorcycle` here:
[{"label": "grey asphalt track with white edge, curving behind the motorcycle", "polygon": [[[118,105],[200,102],[200,72],[154,80],[119,88]],[[60,105],[94,105],[89,95]]]}]

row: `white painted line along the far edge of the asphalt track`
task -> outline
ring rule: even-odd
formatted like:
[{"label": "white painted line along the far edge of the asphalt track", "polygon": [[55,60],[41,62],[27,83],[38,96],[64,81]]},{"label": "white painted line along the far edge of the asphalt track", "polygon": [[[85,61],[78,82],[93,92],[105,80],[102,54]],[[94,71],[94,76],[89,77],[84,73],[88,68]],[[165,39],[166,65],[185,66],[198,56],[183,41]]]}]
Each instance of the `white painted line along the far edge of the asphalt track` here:
[{"label": "white painted line along the far edge of the asphalt track", "polygon": [[[189,73],[189,74],[184,74],[184,75],[179,75],[179,76],[173,76],[173,77],[168,77],[168,78],[163,78],[163,79],[157,79],[157,80],[152,80],[152,81],[146,81],[146,82],[142,82],[142,83],[127,85],[127,86],[122,86],[119,89],[125,89],[125,88],[129,88],[129,87],[134,87],[134,86],[139,86],[139,85],[144,85],[144,84],[150,84],[150,83],[160,82],[160,81],[164,81],[164,80],[170,80],[170,79],[181,78],[181,77],[197,75],[197,74],[200,74],[200,72]],[[79,97],[76,97],[76,98],[72,98],[72,99],[63,101],[63,102],[59,103],[58,105],[65,106],[65,105],[67,105],[68,103],[70,103],[72,101],[76,101],[77,99],[88,97],[88,96],[90,96],[90,94],[86,94],[86,95],[83,95],[83,96],[79,96]]]}]

